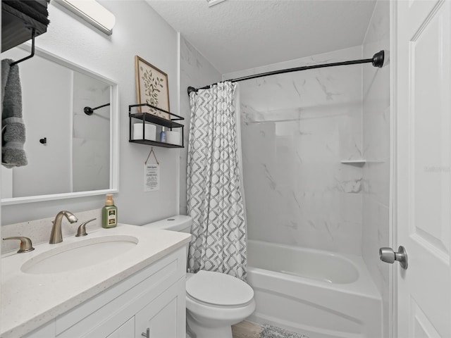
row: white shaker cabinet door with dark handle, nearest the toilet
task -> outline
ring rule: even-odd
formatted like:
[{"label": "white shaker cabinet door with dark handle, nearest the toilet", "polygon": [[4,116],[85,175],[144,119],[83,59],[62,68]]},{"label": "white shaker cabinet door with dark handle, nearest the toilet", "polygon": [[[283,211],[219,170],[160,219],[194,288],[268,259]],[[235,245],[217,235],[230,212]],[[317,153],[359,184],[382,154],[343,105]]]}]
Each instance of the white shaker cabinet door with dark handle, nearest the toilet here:
[{"label": "white shaker cabinet door with dark handle, nearest the toilet", "polygon": [[135,338],[149,328],[149,338],[185,338],[185,278],[168,288],[135,315]]}]

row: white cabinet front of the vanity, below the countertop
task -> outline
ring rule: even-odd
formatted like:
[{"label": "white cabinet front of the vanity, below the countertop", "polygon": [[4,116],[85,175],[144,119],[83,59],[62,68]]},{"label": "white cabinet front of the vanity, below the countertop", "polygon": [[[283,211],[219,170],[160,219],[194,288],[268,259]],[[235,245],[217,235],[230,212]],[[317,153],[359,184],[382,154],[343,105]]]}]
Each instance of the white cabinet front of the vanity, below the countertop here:
[{"label": "white cabinet front of the vanity, below the countertop", "polygon": [[185,338],[185,246],[26,338]]}]

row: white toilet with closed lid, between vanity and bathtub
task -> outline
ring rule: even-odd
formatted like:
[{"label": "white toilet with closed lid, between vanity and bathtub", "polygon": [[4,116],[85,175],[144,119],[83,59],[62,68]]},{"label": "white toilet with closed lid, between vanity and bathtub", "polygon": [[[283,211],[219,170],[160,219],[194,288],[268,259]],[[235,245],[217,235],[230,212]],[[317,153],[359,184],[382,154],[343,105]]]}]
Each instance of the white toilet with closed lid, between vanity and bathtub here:
[{"label": "white toilet with closed lid, between vanity and bathtub", "polygon": [[[190,216],[175,215],[143,226],[189,233],[191,225]],[[232,325],[254,311],[254,290],[242,280],[213,271],[187,273],[186,319],[192,338],[232,338]]]}]

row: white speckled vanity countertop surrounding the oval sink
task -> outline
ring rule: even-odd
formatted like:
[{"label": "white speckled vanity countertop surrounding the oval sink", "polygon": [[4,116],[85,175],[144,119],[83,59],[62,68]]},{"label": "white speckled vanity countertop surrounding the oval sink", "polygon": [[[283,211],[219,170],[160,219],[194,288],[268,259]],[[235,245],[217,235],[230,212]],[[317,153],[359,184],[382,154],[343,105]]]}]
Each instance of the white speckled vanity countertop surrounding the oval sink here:
[{"label": "white speckled vanity countertop surrounding the oval sink", "polygon": [[[137,245],[109,261],[63,273],[29,274],[20,267],[40,253],[111,235],[129,235]],[[62,243],[39,244],[34,251],[9,253],[1,261],[1,337],[21,337],[142,270],[190,242],[190,234],[119,224],[85,237],[65,237]],[[101,254],[101,253],[99,253]]]}]

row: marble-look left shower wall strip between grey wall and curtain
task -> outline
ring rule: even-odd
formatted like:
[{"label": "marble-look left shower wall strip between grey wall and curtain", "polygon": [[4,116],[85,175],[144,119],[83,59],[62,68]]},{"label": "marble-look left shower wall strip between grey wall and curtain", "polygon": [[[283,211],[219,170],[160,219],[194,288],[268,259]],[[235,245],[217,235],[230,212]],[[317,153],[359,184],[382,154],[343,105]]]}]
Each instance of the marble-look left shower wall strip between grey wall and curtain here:
[{"label": "marble-look left shower wall strip between grey wall and curtain", "polygon": [[187,87],[204,87],[221,81],[221,73],[184,37],[180,37],[180,115],[185,118],[185,148],[180,149],[180,213],[186,215],[186,166],[190,130],[190,99]]}]

